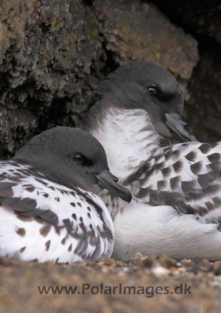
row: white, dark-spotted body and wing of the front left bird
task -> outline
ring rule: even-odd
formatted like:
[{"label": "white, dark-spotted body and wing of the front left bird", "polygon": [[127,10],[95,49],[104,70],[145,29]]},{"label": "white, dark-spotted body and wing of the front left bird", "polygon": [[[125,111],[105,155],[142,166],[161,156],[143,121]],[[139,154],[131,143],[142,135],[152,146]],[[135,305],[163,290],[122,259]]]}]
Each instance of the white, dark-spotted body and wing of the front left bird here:
[{"label": "white, dark-spotted body and wing of the front left bird", "polygon": [[111,217],[98,196],[43,178],[28,165],[0,162],[0,255],[75,262],[110,257]]}]

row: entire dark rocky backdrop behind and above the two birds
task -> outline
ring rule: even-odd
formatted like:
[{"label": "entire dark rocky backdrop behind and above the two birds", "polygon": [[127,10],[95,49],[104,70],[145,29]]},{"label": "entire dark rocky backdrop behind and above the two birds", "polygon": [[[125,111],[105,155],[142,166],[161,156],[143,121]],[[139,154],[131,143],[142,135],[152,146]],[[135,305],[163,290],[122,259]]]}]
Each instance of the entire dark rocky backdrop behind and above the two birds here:
[{"label": "entire dark rocky backdrop behind and above the two birds", "polygon": [[80,127],[98,82],[134,60],[169,69],[182,85],[190,131],[220,140],[221,5],[153,3],[0,1],[2,158],[54,125]]}]

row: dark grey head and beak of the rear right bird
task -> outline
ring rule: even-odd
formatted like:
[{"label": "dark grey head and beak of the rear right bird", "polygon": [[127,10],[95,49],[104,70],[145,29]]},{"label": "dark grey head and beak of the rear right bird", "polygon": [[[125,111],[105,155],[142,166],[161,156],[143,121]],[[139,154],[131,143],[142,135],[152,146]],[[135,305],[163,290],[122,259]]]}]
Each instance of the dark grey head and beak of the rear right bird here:
[{"label": "dark grey head and beak of the rear right bird", "polygon": [[110,73],[96,89],[90,106],[100,101],[102,107],[111,104],[123,109],[143,109],[151,115],[161,135],[171,136],[172,131],[182,140],[191,140],[181,119],[181,86],[168,70],[154,62],[136,61]]}]

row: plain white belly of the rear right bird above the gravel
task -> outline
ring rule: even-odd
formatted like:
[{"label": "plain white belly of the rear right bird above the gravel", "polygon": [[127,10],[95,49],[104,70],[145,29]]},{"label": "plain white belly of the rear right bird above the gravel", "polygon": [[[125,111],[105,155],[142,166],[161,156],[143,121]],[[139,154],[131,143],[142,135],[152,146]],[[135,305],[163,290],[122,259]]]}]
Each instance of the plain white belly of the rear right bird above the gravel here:
[{"label": "plain white belly of the rear right bird above the gravel", "polygon": [[115,217],[112,257],[126,261],[141,252],[175,259],[221,259],[217,224],[200,224],[193,215],[180,215],[169,206],[135,203],[125,205]]}]

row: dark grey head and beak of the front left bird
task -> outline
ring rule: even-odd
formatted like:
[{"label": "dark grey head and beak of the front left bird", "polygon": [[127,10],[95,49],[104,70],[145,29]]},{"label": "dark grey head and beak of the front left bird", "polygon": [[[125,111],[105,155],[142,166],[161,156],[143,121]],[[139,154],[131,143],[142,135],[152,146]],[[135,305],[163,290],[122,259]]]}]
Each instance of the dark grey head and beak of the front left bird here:
[{"label": "dark grey head and beak of the front left bird", "polygon": [[80,129],[58,126],[47,130],[29,140],[13,160],[32,165],[65,186],[94,193],[106,188],[131,200],[130,191],[109,172],[100,142]]}]

